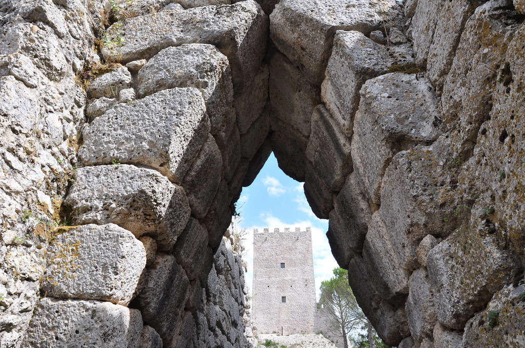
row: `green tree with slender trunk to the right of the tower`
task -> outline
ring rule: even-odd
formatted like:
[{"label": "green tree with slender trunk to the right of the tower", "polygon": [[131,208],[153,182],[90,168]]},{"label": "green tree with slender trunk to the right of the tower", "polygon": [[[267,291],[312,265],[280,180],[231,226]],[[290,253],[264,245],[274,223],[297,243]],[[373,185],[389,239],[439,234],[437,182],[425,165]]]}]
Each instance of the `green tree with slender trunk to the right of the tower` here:
[{"label": "green tree with slender trunk to the right of the tower", "polygon": [[330,280],[321,282],[320,288],[320,303],[328,320],[328,328],[343,338],[344,348],[348,348],[349,333],[359,330],[366,330],[367,334],[358,334],[359,339],[353,340],[354,344],[360,344],[359,347],[383,347],[383,342],[377,338],[372,324],[355,300],[348,281],[348,270],[337,267],[333,269],[333,274]]}]

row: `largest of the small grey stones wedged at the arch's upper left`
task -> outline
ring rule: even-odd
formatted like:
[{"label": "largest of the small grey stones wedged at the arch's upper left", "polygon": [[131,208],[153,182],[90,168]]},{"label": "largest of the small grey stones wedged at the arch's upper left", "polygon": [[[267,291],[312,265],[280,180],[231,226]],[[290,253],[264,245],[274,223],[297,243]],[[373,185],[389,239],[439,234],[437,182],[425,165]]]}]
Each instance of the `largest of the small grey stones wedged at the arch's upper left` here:
[{"label": "largest of the small grey stones wedged at the arch's upper left", "polygon": [[90,98],[117,98],[121,90],[131,87],[131,74],[126,67],[120,67],[96,78],[87,90]]}]

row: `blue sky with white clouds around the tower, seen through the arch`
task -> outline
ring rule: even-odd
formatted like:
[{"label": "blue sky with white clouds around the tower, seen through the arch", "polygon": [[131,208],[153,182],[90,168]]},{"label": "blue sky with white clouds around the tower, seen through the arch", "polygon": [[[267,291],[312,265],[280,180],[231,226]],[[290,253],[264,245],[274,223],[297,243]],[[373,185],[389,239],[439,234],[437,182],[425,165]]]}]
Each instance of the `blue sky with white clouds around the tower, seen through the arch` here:
[{"label": "blue sky with white clouds around the tower, seen through the arch", "polygon": [[321,281],[333,276],[332,270],[337,263],[330,251],[325,233],[328,231],[328,220],[321,220],[313,214],[306,197],[303,183],[293,180],[278,167],[277,159],[272,153],[259,172],[255,181],[243,189],[237,202],[241,214],[240,227],[248,232],[244,246],[248,271],[245,274],[246,284],[250,287],[253,279],[253,231],[254,229],[306,227],[312,229],[313,267],[316,275],[316,295],[319,299]]}]

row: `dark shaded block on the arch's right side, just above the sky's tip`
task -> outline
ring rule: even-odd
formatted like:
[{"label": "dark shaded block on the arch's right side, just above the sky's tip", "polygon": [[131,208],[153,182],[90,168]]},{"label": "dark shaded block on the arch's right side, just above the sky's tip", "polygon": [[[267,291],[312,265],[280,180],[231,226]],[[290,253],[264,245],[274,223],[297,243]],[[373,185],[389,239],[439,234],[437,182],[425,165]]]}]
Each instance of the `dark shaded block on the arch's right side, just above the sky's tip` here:
[{"label": "dark shaded block on the arch's right side, just above the sky's tip", "polygon": [[274,131],[270,136],[271,150],[274,151],[279,168],[292,179],[306,180],[308,138],[296,131],[291,125],[279,121],[276,117],[270,119],[270,125]]}]

